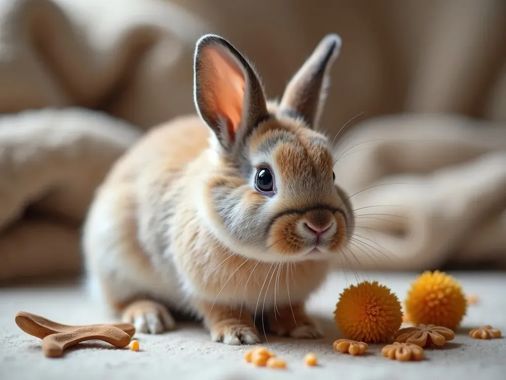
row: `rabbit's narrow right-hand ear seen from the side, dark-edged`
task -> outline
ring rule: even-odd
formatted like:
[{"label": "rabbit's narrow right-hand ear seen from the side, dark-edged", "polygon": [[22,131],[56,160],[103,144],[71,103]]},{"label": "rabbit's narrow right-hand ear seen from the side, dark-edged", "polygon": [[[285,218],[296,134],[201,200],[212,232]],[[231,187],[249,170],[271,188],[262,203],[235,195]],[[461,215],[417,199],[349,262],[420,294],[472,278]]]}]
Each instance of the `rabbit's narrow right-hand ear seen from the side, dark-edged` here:
[{"label": "rabbit's narrow right-hand ear seen from the side, dark-edged", "polygon": [[316,127],[327,95],[328,71],[340,50],[341,37],[338,34],[323,37],[286,86],[279,113],[300,117],[309,127]]}]

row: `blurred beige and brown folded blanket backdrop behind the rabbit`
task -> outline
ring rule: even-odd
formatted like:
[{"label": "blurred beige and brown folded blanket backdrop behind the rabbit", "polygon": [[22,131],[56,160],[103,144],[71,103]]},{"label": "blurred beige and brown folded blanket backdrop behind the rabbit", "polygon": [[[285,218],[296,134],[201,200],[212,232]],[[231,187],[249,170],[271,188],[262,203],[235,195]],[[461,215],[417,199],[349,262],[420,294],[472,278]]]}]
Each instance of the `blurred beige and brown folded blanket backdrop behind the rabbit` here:
[{"label": "blurred beige and brown folded blanket backdrop behind the rabbit", "polygon": [[206,32],[245,52],[272,97],[341,34],[321,128],[341,130],[336,176],[358,218],[336,264],[506,263],[503,0],[0,0],[0,281],[80,270],[108,168],[194,112]]}]

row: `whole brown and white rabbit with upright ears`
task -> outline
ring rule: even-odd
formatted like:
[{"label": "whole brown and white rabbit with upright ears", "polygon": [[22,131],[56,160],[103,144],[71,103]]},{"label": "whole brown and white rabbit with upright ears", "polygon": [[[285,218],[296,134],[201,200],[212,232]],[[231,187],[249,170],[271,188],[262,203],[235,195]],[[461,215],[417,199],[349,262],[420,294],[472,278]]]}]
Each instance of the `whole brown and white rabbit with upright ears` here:
[{"label": "whole brown and white rabbit with upright ears", "polygon": [[230,43],[198,40],[198,115],[153,129],[118,160],[83,227],[89,279],[139,332],[173,329],[171,310],[226,344],[258,343],[260,315],[274,333],[321,336],[304,303],[353,228],[315,131],[340,48],[325,36],[267,102]]}]

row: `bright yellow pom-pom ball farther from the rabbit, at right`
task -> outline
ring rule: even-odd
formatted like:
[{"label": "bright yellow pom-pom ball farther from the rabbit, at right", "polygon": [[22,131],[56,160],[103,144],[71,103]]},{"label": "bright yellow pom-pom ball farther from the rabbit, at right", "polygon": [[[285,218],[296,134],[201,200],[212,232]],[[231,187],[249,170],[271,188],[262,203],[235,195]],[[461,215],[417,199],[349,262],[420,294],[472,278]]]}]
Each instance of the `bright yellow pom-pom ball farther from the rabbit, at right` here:
[{"label": "bright yellow pom-pom ball farther from the rabbit, at right", "polygon": [[467,309],[460,284],[440,271],[426,271],[418,276],[404,303],[415,326],[423,323],[455,329]]}]

